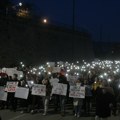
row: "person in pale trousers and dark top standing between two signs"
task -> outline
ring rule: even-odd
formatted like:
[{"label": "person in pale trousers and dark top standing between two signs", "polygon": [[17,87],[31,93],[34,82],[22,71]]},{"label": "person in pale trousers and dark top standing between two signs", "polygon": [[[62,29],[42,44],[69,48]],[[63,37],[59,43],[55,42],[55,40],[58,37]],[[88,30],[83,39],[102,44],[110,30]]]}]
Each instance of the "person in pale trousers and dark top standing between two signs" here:
[{"label": "person in pale trousers and dark top standing between two signs", "polygon": [[42,81],[42,84],[46,85],[46,96],[43,97],[43,104],[44,104],[44,113],[43,113],[43,115],[47,115],[52,87],[50,85],[50,82],[49,82],[48,78],[45,78]]}]

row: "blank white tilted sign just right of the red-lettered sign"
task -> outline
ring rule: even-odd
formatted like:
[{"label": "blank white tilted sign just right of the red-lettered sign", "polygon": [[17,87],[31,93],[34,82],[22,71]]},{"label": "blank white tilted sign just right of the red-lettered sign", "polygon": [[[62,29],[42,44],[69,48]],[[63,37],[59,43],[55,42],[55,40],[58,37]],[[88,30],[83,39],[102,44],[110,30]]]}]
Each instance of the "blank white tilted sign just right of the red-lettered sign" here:
[{"label": "blank white tilted sign just right of the red-lettered sign", "polygon": [[29,95],[29,89],[23,87],[17,87],[15,92],[16,98],[27,99]]}]

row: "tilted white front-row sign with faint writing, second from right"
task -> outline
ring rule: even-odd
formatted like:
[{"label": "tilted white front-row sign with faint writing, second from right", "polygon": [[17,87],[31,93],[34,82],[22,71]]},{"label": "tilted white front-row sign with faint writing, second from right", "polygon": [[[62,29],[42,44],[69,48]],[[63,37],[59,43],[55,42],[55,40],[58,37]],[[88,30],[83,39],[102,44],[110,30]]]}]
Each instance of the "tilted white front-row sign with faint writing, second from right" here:
[{"label": "tilted white front-row sign with faint writing, second from right", "polygon": [[65,96],[67,94],[67,85],[62,83],[55,83],[52,88],[52,94]]}]

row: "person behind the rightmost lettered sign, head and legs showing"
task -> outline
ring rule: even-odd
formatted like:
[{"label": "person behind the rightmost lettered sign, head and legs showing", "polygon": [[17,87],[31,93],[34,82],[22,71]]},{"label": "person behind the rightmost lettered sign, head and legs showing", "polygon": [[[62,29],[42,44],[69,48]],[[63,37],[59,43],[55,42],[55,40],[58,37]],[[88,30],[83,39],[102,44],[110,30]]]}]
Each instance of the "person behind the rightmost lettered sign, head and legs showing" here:
[{"label": "person behind the rightmost lettered sign, head and legs showing", "polygon": [[[77,89],[80,89],[81,87],[81,83],[80,80],[76,81],[76,85]],[[74,98],[73,99],[73,105],[74,105],[74,111],[75,111],[75,117],[80,117],[81,115],[81,108],[82,108],[82,104],[83,104],[83,99],[82,98]]]}]

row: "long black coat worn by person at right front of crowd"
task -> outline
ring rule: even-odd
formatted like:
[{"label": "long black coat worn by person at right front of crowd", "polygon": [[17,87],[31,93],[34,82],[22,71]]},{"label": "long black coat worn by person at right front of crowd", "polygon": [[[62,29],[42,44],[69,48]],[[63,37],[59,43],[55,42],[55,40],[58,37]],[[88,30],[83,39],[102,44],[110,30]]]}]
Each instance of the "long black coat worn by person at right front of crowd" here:
[{"label": "long black coat worn by person at right front of crowd", "polygon": [[114,95],[108,88],[96,89],[96,115],[107,118],[111,115],[110,103],[113,103]]}]

